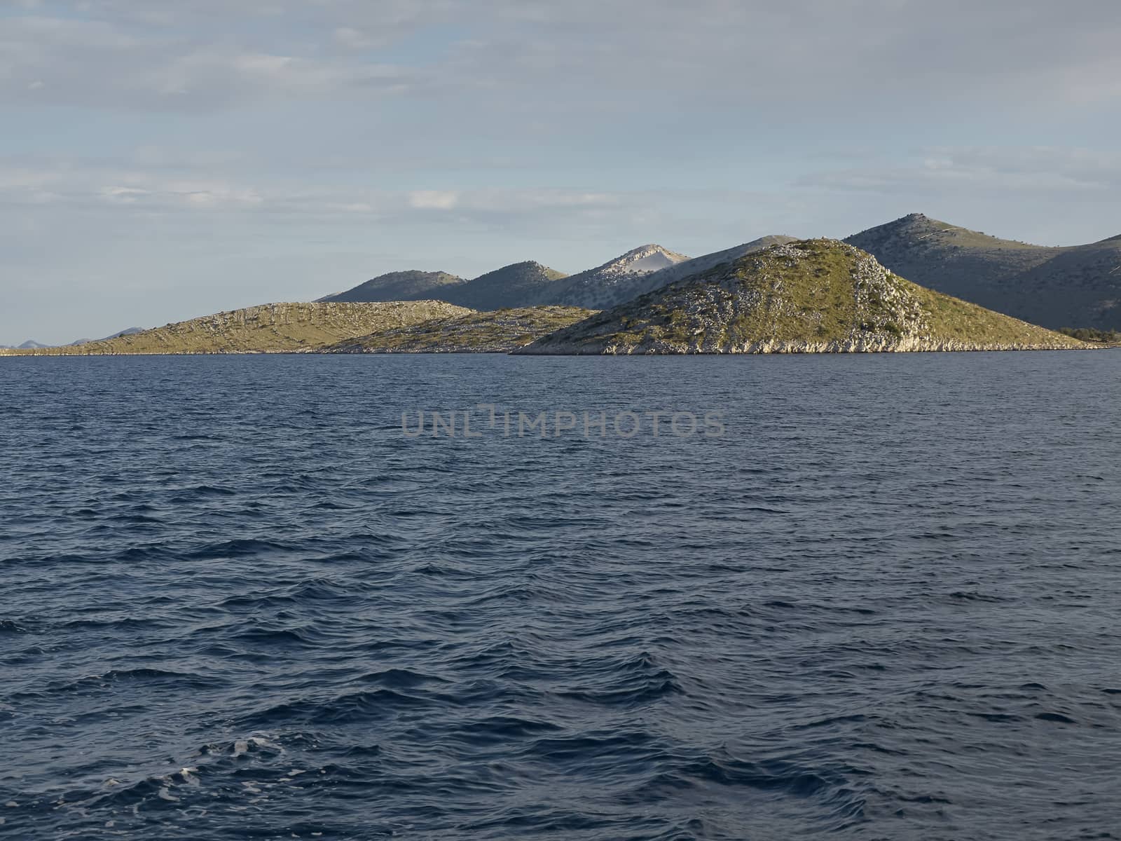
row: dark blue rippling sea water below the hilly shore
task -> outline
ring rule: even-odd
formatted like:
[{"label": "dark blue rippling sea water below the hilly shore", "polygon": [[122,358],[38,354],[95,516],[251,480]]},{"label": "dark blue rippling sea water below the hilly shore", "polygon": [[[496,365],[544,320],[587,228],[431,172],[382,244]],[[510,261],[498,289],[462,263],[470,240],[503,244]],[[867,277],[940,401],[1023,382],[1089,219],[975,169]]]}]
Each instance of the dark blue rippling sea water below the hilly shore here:
[{"label": "dark blue rippling sea water below the hilly shore", "polygon": [[0,359],[0,837],[1121,838],[1119,372]]}]

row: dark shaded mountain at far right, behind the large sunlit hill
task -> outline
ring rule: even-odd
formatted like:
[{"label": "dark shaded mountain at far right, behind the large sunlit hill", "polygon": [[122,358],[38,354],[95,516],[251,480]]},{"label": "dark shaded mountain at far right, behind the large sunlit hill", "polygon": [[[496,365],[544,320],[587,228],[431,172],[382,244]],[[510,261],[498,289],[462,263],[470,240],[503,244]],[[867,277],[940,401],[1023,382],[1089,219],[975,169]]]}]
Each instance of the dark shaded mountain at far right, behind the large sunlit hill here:
[{"label": "dark shaded mountain at far right, behind the large sunlit hill", "polygon": [[1025,321],[1121,329],[1121,237],[1050,248],[912,213],[845,241],[917,284]]}]

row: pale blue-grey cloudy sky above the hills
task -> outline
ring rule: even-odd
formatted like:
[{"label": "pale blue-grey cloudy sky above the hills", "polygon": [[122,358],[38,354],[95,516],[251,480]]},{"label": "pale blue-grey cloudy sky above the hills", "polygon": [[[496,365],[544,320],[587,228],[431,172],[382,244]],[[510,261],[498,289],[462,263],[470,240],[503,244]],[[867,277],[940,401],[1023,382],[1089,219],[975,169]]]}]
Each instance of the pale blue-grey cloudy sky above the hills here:
[{"label": "pale blue-grey cloudy sky above the hills", "polygon": [[1117,0],[0,0],[0,344],[911,212],[1121,233]]}]

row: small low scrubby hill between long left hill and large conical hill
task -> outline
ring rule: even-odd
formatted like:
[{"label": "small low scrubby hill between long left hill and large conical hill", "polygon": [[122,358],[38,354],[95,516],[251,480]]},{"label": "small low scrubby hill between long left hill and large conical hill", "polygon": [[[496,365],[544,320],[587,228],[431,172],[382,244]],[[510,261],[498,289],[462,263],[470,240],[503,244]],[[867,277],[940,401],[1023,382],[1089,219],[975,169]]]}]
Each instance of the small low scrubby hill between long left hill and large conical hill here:
[{"label": "small low scrubby hill between long left hill and large conical hill", "polygon": [[508,353],[592,315],[590,309],[534,306],[433,318],[325,348],[325,353]]}]

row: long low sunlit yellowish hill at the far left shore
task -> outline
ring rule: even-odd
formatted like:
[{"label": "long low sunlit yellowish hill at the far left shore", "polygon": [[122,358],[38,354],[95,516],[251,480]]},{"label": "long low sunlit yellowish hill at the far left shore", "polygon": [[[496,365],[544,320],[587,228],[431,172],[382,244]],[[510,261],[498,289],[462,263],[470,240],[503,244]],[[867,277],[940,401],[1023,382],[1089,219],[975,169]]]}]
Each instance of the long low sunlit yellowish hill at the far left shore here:
[{"label": "long low sunlit yellowish hill at the far left shore", "polygon": [[192,318],[108,341],[3,353],[282,353],[317,350],[342,339],[470,312],[442,301],[266,304]]}]

